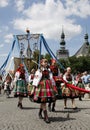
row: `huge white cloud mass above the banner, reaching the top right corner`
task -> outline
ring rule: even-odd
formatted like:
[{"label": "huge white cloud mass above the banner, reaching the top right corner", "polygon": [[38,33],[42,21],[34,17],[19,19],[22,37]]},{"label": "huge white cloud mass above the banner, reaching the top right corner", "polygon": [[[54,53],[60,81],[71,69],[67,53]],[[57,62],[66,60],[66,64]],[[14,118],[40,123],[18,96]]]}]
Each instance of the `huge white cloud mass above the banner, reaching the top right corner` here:
[{"label": "huge white cloud mass above the banner, reaching the top right corner", "polygon": [[90,3],[89,0],[75,1],[66,0],[65,6],[60,0],[46,0],[45,4],[34,3],[23,11],[24,18],[13,20],[14,28],[25,32],[28,27],[33,33],[43,33],[46,38],[59,39],[63,25],[67,38],[78,35],[82,27],[76,24],[76,19],[70,19],[69,16],[84,18],[90,15]]}]

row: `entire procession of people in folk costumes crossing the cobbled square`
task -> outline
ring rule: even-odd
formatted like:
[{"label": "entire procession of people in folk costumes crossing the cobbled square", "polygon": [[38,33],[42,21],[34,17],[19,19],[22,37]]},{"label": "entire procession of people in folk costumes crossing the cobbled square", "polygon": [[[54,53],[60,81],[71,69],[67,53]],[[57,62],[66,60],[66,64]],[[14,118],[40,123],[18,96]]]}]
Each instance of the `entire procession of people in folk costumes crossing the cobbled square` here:
[{"label": "entire procession of people in folk costumes crossing the cobbled square", "polygon": [[[84,73],[85,74],[85,73]],[[88,76],[89,77],[89,76]],[[29,98],[30,101],[40,104],[38,117],[46,123],[50,123],[48,111],[55,112],[57,100],[63,99],[64,109],[68,109],[68,99],[71,100],[72,109],[78,109],[75,98],[82,101],[82,97],[86,93],[90,94],[90,89],[86,89],[86,77],[81,73],[74,76],[71,68],[67,67],[64,73],[60,72],[55,59],[51,59],[51,63],[43,58],[40,61],[40,67],[32,69],[27,75],[24,64],[19,64],[13,78],[13,87],[10,87],[11,80],[6,78],[4,81],[4,90],[8,90],[9,94],[18,98],[17,107],[23,109],[23,99]],[[3,88],[2,77],[0,77],[0,93]],[[12,89],[11,89],[12,88]]]}]

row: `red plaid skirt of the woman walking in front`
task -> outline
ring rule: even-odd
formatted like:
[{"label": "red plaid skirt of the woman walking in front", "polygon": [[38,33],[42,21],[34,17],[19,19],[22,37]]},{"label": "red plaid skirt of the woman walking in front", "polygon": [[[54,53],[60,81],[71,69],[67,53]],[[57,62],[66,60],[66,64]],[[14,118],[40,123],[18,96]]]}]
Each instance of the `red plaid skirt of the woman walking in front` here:
[{"label": "red plaid skirt of the woman walking in front", "polygon": [[56,86],[52,86],[50,80],[43,80],[34,89],[33,101],[37,103],[54,102],[56,94]]}]

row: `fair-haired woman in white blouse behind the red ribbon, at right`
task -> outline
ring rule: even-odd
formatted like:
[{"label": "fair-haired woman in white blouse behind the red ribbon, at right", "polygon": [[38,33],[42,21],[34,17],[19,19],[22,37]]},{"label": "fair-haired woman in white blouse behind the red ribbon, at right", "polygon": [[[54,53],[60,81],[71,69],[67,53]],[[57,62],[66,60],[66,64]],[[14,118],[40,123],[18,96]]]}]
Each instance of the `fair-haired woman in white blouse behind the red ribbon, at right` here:
[{"label": "fair-haired woman in white blouse behind the red ribbon, at right", "polygon": [[[67,67],[66,72],[63,76],[63,79],[69,83],[69,84],[75,84],[74,81],[74,77],[71,74],[71,68]],[[75,106],[75,97],[77,97],[78,95],[76,95],[76,92],[74,89],[70,89],[67,86],[65,86],[64,83],[62,83],[62,95],[64,97],[64,108],[67,108],[67,98],[71,98],[72,101],[72,108],[76,109],[77,107]]]}]

